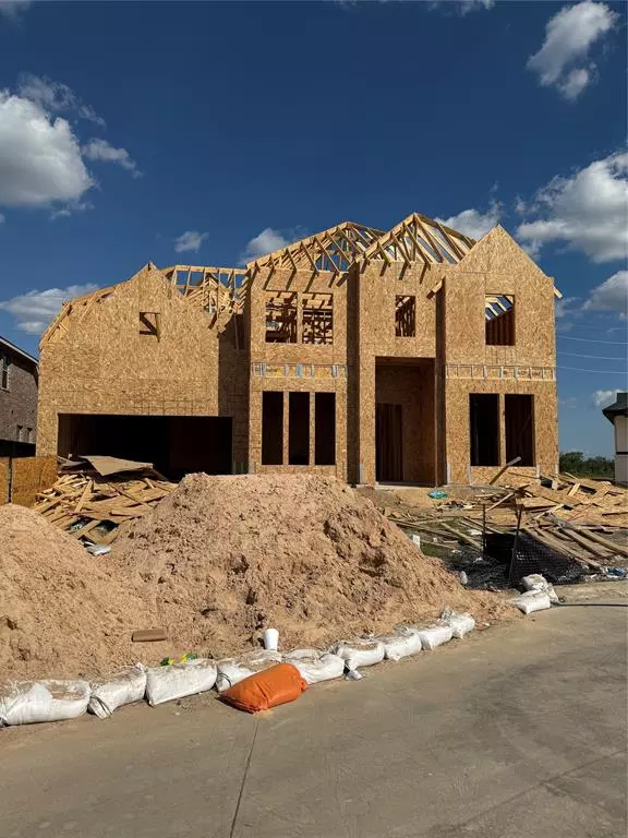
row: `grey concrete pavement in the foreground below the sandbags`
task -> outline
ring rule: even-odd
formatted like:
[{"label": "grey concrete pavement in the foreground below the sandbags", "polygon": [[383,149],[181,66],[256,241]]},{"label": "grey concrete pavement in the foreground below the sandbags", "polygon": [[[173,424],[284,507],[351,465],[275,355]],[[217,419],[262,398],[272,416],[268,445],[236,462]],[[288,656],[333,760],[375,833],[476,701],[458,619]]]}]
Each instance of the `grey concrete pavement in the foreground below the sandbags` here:
[{"label": "grey concrete pavement in the foreground below the sandbags", "polygon": [[3,838],[625,838],[627,609],[312,687],[0,731]]}]

